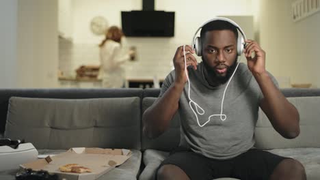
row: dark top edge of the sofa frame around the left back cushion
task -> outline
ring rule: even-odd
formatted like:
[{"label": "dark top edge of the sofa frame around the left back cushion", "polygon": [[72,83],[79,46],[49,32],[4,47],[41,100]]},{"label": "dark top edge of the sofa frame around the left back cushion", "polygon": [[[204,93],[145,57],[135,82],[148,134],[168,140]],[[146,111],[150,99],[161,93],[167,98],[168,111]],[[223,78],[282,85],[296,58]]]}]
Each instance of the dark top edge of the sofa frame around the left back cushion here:
[{"label": "dark top edge of the sofa frame around the left back cushion", "polygon": [[0,134],[5,131],[8,103],[12,96],[59,99],[88,99],[107,97],[142,97],[142,89],[0,89]]}]

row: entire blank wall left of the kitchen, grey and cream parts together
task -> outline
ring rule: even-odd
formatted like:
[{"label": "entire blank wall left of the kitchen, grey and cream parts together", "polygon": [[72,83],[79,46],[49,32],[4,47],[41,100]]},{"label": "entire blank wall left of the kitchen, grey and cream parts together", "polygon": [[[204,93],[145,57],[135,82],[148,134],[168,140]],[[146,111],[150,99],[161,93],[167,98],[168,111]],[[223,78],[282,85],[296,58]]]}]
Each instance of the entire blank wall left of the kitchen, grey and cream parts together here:
[{"label": "entire blank wall left of the kitchen, grey and cream parts together", "polygon": [[0,87],[57,84],[57,0],[0,1]]}]

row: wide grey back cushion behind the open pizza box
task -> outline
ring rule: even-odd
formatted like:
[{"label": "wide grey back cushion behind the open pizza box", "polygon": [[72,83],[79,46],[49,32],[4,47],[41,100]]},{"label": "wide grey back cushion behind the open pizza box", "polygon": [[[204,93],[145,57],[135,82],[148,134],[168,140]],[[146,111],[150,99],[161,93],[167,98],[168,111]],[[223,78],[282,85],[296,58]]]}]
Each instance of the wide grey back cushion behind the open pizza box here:
[{"label": "wide grey back cushion behind the open pizza box", "polygon": [[5,136],[37,149],[140,149],[139,97],[49,99],[11,97]]}]

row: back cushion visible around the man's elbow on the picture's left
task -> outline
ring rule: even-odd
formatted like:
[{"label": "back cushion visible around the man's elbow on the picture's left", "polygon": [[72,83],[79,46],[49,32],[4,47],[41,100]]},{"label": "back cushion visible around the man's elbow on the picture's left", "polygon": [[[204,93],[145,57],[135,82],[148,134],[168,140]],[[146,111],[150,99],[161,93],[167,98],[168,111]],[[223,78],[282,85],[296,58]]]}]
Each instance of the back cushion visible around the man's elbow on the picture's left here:
[{"label": "back cushion visible around the man's elbow on the picture's left", "polygon": [[[157,97],[146,97],[142,100],[142,112],[150,107]],[[142,122],[143,123],[143,122]],[[143,125],[143,124],[142,124]],[[155,139],[150,139],[142,134],[142,150],[158,149],[162,151],[170,151],[177,147],[180,142],[180,117],[178,112],[174,115],[168,130]]]}]

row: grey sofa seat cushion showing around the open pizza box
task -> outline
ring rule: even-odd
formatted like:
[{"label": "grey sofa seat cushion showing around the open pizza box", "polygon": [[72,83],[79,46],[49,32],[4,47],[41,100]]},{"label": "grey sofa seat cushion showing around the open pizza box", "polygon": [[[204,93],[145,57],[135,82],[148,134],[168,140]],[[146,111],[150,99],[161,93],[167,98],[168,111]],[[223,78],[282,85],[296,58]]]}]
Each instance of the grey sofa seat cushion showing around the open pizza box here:
[{"label": "grey sofa seat cushion showing around the open pizza box", "polygon": [[[66,150],[51,150],[51,149],[40,149],[39,154],[40,155],[52,155],[52,154],[58,154],[63,153]],[[128,180],[135,180],[137,179],[137,175],[139,173],[139,168],[141,164],[142,159],[142,153],[139,150],[131,149],[132,156],[129,158],[129,160],[126,160],[123,164],[120,166],[109,170],[105,175],[99,177],[97,180],[107,180],[107,179],[114,179],[114,180],[122,180],[122,179],[128,179]],[[14,170],[5,170],[0,171],[0,179],[8,179],[8,180],[14,180],[16,172],[18,172],[18,168]]]}]

